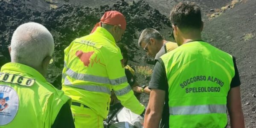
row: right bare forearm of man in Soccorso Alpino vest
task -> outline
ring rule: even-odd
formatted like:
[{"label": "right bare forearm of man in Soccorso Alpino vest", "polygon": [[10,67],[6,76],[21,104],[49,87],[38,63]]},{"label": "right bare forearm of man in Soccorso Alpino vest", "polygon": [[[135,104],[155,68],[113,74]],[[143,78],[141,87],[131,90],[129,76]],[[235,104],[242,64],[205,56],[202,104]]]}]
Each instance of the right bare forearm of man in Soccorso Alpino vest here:
[{"label": "right bare forearm of man in Soccorso Alpino vest", "polygon": [[244,115],[241,107],[240,87],[233,87],[227,96],[227,110],[231,128],[244,128]]}]

